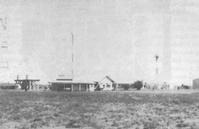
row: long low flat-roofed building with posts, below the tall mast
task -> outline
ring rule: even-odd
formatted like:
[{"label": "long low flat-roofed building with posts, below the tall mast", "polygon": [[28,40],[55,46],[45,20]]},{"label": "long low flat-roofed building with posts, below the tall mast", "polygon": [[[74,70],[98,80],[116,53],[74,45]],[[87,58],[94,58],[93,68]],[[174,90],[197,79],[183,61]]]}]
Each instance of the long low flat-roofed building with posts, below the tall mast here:
[{"label": "long low flat-roofed building with posts, below the tall mast", "polygon": [[94,91],[94,83],[55,81],[49,82],[52,91]]}]

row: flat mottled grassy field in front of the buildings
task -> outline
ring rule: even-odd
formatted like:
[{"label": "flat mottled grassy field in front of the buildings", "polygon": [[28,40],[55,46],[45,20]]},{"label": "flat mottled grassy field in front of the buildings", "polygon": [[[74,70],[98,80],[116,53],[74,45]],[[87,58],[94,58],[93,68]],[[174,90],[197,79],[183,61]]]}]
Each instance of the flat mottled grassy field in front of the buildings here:
[{"label": "flat mottled grassy field in front of the buildings", "polygon": [[199,129],[199,93],[0,91],[0,129]]}]

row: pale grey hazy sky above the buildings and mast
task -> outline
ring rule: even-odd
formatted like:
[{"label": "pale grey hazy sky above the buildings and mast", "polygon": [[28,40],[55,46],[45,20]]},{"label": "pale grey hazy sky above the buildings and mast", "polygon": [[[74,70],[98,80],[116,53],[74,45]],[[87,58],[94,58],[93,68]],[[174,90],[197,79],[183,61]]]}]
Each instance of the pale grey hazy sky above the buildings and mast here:
[{"label": "pale grey hazy sky above the buildings and mast", "polygon": [[8,44],[0,49],[0,62],[8,61],[1,81],[28,74],[47,83],[71,78],[72,67],[74,80],[89,82],[109,75],[180,85],[199,77],[195,0],[0,0],[0,7]]}]

